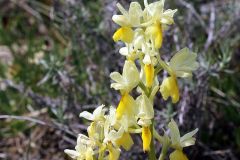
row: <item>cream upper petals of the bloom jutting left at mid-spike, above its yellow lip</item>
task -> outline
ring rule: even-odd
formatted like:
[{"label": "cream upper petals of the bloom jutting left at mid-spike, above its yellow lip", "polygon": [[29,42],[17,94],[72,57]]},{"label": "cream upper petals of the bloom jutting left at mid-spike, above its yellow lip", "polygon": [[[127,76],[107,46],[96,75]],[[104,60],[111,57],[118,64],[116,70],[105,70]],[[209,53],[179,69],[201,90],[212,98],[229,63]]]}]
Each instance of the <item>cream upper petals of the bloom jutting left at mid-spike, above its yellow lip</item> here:
[{"label": "cream upper petals of the bloom jutting left at mid-spike, above its yellow lip", "polygon": [[110,77],[115,81],[115,83],[111,84],[112,88],[127,93],[135,88],[140,81],[139,72],[135,63],[128,60],[125,61],[123,66],[122,75],[118,72],[112,72]]}]

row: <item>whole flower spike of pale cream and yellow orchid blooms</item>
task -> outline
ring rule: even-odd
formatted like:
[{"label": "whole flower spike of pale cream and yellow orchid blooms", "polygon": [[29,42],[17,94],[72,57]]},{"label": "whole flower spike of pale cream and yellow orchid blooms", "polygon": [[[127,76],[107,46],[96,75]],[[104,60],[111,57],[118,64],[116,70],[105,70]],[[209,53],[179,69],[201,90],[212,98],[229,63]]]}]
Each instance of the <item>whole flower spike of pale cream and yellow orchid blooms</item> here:
[{"label": "whole flower spike of pale cream and yellow orchid blooms", "polygon": [[[65,150],[72,159],[118,160],[122,148],[128,151],[133,146],[132,134],[141,134],[144,152],[152,154],[151,142],[156,138],[162,145],[160,159],[165,158],[171,147],[174,152],[170,154],[170,160],[188,160],[182,150],[195,144],[193,135],[198,130],[181,137],[176,122],[171,120],[168,124],[170,132],[160,136],[153,123],[154,97],[158,91],[164,100],[170,97],[177,103],[180,97],[177,78],[189,78],[198,68],[197,54],[188,48],[178,51],[169,61],[162,59],[164,31],[174,23],[173,16],[177,11],[165,10],[164,2],[159,0],[149,4],[144,0],[144,7],[131,2],[128,10],[117,3],[120,14],[114,15],[112,20],[119,28],[112,38],[124,43],[119,53],[126,59],[122,72],[112,72],[110,78],[111,88],[120,93],[121,99],[117,107],[100,105],[93,113],[80,113],[90,125],[87,136],[79,134],[75,150]],[[158,77],[161,72],[165,73],[164,78]]]}]

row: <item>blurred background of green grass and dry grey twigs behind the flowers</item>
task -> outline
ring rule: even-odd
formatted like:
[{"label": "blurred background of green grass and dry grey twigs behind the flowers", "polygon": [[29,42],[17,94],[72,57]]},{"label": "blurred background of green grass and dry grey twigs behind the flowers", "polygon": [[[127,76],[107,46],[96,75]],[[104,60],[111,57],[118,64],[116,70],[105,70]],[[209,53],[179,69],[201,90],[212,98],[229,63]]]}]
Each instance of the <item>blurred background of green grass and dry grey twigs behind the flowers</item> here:
[{"label": "blurred background of green grass and dry grey twigs behind the flowers", "polygon": [[[124,58],[112,34],[116,3],[127,0],[0,0],[0,159],[64,160],[78,133],[86,133],[83,110],[117,105],[109,74]],[[139,1],[142,3],[142,0]],[[149,2],[151,2],[149,0]],[[180,80],[181,100],[158,94],[156,127],[171,118],[180,131],[199,128],[189,159],[240,157],[240,2],[166,0],[178,9],[164,34],[169,59],[187,46],[198,53],[193,79]],[[146,159],[141,138],[121,159]],[[160,151],[160,146],[156,146]]]}]

